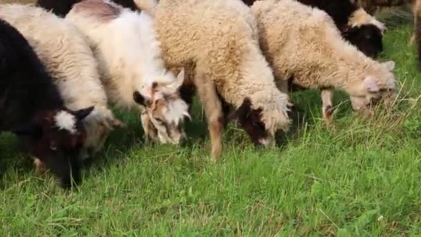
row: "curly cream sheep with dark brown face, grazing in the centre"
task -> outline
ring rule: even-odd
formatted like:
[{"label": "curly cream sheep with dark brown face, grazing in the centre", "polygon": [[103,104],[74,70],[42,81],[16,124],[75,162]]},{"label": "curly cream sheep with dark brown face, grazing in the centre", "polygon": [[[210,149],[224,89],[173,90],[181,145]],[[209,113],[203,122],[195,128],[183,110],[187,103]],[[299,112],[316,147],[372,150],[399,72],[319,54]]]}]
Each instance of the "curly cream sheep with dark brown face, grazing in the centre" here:
[{"label": "curly cream sheep with dark brown face, grazing in the centre", "polygon": [[244,3],[161,0],[155,7],[138,6],[155,16],[168,67],[195,70],[195,87],[208,121],[213,158],[222,152],[224,123],[217,92],[238,108],[229,117],[238,118],[256,145],[273,144],[275,132],[288,129],[288,96],[276,88],[259,49],[256,21]]}]

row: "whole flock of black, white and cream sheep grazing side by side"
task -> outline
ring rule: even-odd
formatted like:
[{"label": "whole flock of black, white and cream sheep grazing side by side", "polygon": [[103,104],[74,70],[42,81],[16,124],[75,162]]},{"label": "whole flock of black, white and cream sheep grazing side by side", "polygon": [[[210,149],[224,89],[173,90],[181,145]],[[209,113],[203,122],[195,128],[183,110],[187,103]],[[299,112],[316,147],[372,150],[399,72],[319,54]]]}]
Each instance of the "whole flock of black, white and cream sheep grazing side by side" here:
[{"label": "whole flock of black, white and cream sheep grazing side by side", "polygon": [[[244,4],[245,3],[245,4]],[[339,10],[340,9],[340,10]],[[258,146],[292,122],[293,88],[332,91],[369,113],[397,94],[395,63],[374,60],[384,25],[352,0],[39,0],[0,5],[0,131],[69,187],[80,161],[140,112],[145,139],[180,143],[198,94],[211,137],[237,119]]]}]

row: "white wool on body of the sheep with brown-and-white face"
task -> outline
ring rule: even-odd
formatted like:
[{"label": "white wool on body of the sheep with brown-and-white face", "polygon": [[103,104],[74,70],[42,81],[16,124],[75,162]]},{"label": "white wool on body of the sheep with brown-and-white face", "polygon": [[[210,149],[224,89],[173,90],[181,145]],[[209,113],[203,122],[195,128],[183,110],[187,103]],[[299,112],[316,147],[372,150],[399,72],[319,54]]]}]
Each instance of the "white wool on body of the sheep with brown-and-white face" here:
[{"label": "white wool on body of the sheep with brown-and-white face", "polygon": [[73,9],[66,20],[89,38],[112,103],[135,107],[134,91],[150,98],[153,82],[168,84],[176,80],[165,69],[152,17],[147,13],[122,9],[116,19],[101,22]]}]

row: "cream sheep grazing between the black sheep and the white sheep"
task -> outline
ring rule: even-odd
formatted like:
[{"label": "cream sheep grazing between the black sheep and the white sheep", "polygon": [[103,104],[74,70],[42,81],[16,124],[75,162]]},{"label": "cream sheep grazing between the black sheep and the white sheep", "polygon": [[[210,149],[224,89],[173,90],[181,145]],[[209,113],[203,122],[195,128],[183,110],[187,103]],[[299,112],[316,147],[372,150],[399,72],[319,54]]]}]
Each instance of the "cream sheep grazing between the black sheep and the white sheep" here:
[{"label": "cream sheep grazing between the black sheep and the white sheep", "polygon": [[86,159],[95,155],[109,132],[123,124],[107,108],[98,65],[84,36],[64,19],[35,6],[6,4],[0,6],[0,17],[28,39],[55,79],[66,107],[77,110],[95,106],[84,120],[88,135],[81,157]]}]

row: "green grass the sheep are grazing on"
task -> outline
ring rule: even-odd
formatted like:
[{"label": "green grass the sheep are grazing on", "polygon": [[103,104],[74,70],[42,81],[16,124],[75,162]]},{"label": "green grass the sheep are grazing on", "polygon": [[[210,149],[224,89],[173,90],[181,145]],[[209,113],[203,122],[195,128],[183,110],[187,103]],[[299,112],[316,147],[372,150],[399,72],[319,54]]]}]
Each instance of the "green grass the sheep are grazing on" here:
[{"label": "green grass the sheep are grazing on", "polygon": [[143,146],[136,114],[119,112],[129,128],[63,191],[1,135],[0,236],[419,236],[421,74],[411,26],[395,27],[382,60],[397,62],[396,109],[364,121],[338,93],[332,130],[317,91],[294,94],[303,112],[276,149],[256,150],[231,124],[213,164],[199,105],[180,148]]}]

